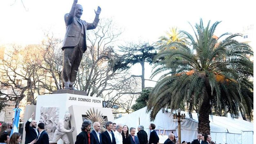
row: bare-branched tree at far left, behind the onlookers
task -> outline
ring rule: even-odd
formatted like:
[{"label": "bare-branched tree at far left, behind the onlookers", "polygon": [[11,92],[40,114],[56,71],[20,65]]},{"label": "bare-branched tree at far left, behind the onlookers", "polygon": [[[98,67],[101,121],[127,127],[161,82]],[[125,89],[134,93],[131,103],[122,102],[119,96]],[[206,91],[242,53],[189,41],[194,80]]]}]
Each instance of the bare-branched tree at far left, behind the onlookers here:
[{"label": "bare-branched tree at far left, behind the onlookers", "polygon": [[[0,61],[1,86],[11,93],[5,94],[6,100],[15,101],[15,106],[30,93],[32,103],[36,83],[38,83],[37,73],[40,69],[37,65],[42,62],[40,48],[36,45],[28,45],[25,48],[12,45],[9,51]],[[2,89],[2,90],[4,90]]]}]

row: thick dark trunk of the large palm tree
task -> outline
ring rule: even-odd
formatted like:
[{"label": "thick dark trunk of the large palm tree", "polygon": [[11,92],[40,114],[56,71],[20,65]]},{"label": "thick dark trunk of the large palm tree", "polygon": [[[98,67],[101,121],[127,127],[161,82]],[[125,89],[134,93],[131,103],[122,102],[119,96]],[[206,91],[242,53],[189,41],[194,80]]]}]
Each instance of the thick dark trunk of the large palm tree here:
[{"label": "thick dark trunk of the large palm tree", "polygon": [[210,121],[209,114],[211,110],[211,105],[209,99],[205,99],[200,110],[198,118],[198,133],[210,134]]}]

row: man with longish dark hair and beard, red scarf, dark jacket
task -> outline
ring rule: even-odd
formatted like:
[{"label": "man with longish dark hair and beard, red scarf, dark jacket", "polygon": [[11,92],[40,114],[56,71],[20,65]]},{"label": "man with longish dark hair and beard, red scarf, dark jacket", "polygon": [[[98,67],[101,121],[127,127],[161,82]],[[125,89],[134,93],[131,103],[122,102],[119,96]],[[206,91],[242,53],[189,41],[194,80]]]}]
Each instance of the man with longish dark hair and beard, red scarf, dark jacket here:
[{"label": "man with longish dark hair and beard, red scarf, dark jacket", "polygon": [[77,140],[75,144],[91,144],[90,140],[90,131],[91,131],[91,121],[90,120],[84,120],[82,127],[82,132],[77,135]]}]

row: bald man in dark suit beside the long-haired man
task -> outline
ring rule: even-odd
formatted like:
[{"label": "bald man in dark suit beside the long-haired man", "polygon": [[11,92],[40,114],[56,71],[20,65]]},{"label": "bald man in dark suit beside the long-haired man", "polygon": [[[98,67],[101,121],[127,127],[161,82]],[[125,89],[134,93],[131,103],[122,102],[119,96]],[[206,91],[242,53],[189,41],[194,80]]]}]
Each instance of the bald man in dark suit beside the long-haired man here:
[{"label": "bald man in dark suit beside the long-haired man", "polygon": [[99,122],[93,123],[93,131],[90,133],[90,144],[102,144]]}]

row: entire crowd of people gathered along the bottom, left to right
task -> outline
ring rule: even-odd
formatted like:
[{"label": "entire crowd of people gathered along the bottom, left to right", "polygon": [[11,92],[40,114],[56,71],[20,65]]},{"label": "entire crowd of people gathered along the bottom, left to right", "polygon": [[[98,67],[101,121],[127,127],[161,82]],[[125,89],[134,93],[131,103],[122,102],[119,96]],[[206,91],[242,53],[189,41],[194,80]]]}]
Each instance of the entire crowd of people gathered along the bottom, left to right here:
[{"label": "entire crowd of people gathered along the bottom, left to right", "polygon": [[[39,123],[33,120],[34,113],[25,124],[25,144],[49,144],[48,133],[44,131],[44,123]],[[93,130],[91,130],[93,127]],[[12,133],[12,123],[3,123],[0,127],[0,144],[20,144],[21,134]],[[75,144],[159,144],[159,137],[155,131],[155,124],[149,125],[150,135],[144,131],[144,127],[139,125],[137,133],[135,127],[116,124],[111,121],[105,123],[105,132],[101,132],[101,125],[99,122],[92,122],[84,120],[81,127],[81,133],[76,137]],[[175,136],[173,133],[168,134],[168,139],[164,144],[174,144]],[[179,142],[175,142],[179,144]],[[69,143],[66,143],[69,144]],[[183,141],[182,144],[190,144],[190,142]],[[191,144],[212,144],[210,135],[203,135],[198,133],[197,139],[193,140]]]}]

